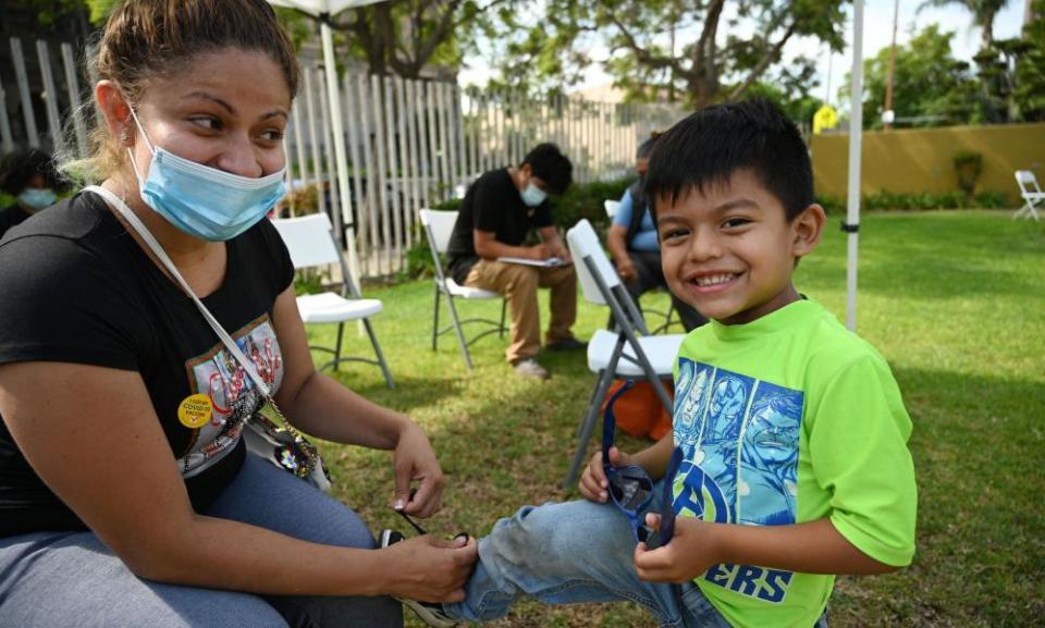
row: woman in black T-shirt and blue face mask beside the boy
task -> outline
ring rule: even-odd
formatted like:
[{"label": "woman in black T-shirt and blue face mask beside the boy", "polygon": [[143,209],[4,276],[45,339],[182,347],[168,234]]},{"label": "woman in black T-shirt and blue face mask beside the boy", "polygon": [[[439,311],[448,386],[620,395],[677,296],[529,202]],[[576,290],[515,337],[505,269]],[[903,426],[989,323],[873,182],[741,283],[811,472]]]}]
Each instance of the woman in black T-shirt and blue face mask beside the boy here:
[{"label": "woman in black T-shirt and blue face mask beside the boy", "polygon": [[[102,186],[238,344],[266,347],[256,366],[295,427],[392,450],[395,506],[438,510],[420,428],[312,368],[263,220],[298,81],[269,5],[125,2],[95,61]],[[245,453],[261,395],[119,199],[84,192],[0,245],[4,624],[395,626],[390,596],[460,599],[474,542],[374,550],[351,509]]]}]

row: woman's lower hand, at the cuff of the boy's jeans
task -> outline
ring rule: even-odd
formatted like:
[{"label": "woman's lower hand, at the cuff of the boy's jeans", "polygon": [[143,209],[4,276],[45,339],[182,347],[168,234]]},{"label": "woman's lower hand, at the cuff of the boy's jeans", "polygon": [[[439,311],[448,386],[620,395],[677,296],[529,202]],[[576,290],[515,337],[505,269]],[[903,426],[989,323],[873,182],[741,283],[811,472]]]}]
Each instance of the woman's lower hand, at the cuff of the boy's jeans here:
[{"label": "woman's lower hand, at the cuff of the boy's jeans", "polygon": [[460,602],[465,582],[479,559],[475,539],[452,541],[431,535],[407,539],[389,545],[386,568],[392,582],[388,593],[421,602]]}]

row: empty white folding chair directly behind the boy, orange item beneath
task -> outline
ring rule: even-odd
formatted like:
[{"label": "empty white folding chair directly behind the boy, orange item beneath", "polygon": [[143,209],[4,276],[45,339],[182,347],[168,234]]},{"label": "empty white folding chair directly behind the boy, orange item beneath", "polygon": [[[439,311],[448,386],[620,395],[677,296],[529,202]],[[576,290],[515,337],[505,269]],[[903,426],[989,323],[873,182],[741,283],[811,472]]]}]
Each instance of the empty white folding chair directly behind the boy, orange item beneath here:
[{"label": "empty white folding chair directly behind the boy, orange item beneath", "polygon": [[672,377],[678,346],[686,335],[650,335],[641,312],[620,283],[591,223],[587,220],[578,222],[566,232],[566,242],[585,299],[608,306],[616,328],[614,331],[597,330],[588,341],[588,368],[598,373],[599,379],[581,419],[577,451],[566,473],[564,485],[569,487],[577,481],[599,408],[615,378],[646,378],[668,414],[672,412],[672,398],[661,380]]}]

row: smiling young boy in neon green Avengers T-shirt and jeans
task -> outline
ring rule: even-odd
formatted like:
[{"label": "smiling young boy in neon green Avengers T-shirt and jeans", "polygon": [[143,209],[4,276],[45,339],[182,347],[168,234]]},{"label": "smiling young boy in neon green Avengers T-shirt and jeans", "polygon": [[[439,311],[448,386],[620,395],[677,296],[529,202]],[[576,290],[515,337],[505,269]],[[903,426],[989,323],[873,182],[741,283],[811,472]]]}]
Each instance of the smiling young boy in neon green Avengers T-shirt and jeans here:
[{"label": "smiling young boy in neon green Avengers T-shirt and jeans", "polygon": [[656,479],[681,450],[674,482],[656,488],[673,492],[674,537],[634,541],[595,454],[586,501],[499,521],[464,602],[431,619],[493,619],[529,594],[631,600],[663,626],[811,628],[826,626],[835,574],[911,562],[899,390],[882,356],[791,281],[825,222],[798,130],[764,101],[711,107],[657,141],[648,176],[668,285],[712,322],[679,349],[674,434],[610,458]]}]

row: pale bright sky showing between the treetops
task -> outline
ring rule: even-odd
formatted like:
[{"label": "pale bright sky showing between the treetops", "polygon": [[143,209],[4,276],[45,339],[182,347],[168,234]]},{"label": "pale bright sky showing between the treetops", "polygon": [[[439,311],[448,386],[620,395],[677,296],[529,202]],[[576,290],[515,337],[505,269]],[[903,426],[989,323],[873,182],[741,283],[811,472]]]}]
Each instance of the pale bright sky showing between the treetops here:
[{"label": "pale bright sky showing between the treetops", "polygon": [[[1024,0],[1009,0],[1008,5],[997,15],[994,22],[995,39],[1006,39],[1019,35],[1023,25],[1023,2]],[[967,61],[972,60],[980,46],[980,28],[972,26],[972,16],[963,9],[957,5],[948,5],[942,9],[924,9],[918,11],[921,0],[900,0],[899,2],[899,27],[897,28],[897,45],[903,45],[911,39],[912,33],[922,30],[929,24],[939,24],[941,29],[954,32],[951,39],[954,54],[957,59]],[[894,0],[864,0],[863,10],[863,57],[870,58],[883,48],[890,45],[893,38],[893,9]],[[848,7],[848,14],[852,16],[852,5]],[[724,28],[720,28],[718,36],[725,38]],[[604,59],[606,49],[594,45],[589,51],[594,59]],[[798,54],[804,54],[813,59],[821,59],[817,67],[821,98],[826,95],[827,79],[831,78],[831,103],[837,102],[838,87],[841,85],[846,73],[852,70],[852,27],[847,29],[846,50],[843,53],[826,54],[826,47],[814,39],[802,38],[788,41],[784,49],[784,59],[794,58]],[[489,59],[489,56],[485,57]],[[482,57],[468,58],[465,60],[469,67],[460,73],[463,84],[482,85],[489,79],[492,70]],[[592,64],[585,74],[583,82],[574,89],[583,89],[611,83],[612,78],[606,75],[598,63]],[[816,91],[814,91],[816,94]]]}]

